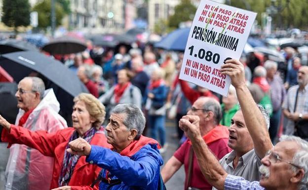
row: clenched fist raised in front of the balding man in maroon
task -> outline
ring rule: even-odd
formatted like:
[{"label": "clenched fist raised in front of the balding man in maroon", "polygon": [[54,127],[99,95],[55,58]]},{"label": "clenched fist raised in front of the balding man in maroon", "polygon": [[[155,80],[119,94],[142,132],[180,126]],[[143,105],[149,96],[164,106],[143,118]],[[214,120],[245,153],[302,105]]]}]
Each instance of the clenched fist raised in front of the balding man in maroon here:
[{"label": "clenched fist raised in front of the balding man in maroon", "polygon": [[186,132],[187,136],[190,139],[201,136],[199,129],[199,120],[200,118],[196,115],[184,115],[179,121],[180,128],[184,132]]}]

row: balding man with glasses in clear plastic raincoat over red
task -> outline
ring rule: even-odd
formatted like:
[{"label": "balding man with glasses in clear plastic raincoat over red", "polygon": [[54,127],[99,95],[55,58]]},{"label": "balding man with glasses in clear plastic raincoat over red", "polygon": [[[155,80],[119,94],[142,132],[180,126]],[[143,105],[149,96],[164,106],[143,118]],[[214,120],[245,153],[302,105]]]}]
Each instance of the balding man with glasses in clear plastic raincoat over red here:
[{"label": "balding man with glasses in clear plastic raincoat over red", "polygon": [[[25,77],[19,82],[15,94],[20,108],[16,125],[49,133],[67,127],[66,121],[58,114],[60,105],[53,90],[44,91],[45,85],[38,77]],[[5,189],[48,190],[52,167],[53,158],[25,145],[12,145],[5,170]]]}]

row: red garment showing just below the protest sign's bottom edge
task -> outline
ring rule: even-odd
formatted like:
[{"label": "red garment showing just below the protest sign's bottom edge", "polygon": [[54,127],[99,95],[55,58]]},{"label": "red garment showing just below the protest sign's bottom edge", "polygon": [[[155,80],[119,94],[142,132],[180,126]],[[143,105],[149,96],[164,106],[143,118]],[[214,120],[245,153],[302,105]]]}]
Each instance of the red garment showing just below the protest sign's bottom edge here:
[{"label": "red garment showing just below the protest sign's bottom edge", "polygon": [[180,85],[183,91],[183,94],[185,95],[185,97],[191,102],[191,104],[194,103],[194,101],[196,101],[198,98],[200,98],[201,96],[205,96],[205,97],[212,97],[215,100],[219,101],[219,99],[217,98],[217,96],[215,96],[214,94],[212,94],[212,92],[210,90],[206,91],[206,92],[200,92],[198,90],[194,90],[192,89],[189,84],[184,81],[179,79],[180,81]]}]

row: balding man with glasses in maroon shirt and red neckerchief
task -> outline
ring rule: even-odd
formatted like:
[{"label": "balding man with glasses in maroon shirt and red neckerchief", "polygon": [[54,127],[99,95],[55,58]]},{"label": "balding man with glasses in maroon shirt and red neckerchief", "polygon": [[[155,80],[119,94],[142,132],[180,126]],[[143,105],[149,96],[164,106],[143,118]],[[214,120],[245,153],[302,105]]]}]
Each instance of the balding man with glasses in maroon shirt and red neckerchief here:
[{"label": "balding man with glasses in maroon shirt and red neckerchief", "polygon": [[[219,125],[222,114],[220,104],[217,100],[209,97],[201,97],[193,103],[192,108],[187,114],[196,115],[200,118],[200,134],[202,135],[202,139],[218,159],[231,151],[228,147],[228,128]],[[161,176],[163,181],[167,182],[183,164],[186,173],[185,190],[189,187],[200,190],[212,189],[212,186],[202,176],[195,152],[192,151],[190,140],[183,143],[162,168]]]}]

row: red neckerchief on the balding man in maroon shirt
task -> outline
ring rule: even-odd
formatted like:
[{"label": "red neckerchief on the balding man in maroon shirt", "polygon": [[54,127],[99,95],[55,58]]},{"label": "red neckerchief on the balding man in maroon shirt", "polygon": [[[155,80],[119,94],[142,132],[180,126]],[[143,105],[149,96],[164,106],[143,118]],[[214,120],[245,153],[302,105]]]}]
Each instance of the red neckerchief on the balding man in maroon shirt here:
[{"label": "red neckerchief on the balding man in maroon shirt", "polygon": [[[202,137],[202,139],[207,145],[219,139],[228,139],[228,138],[229,138],[229,130],[226,126],[223,125],[217,125]],[[192,142],[190,140],[188,140],[188,142],[192,145]]]}]

